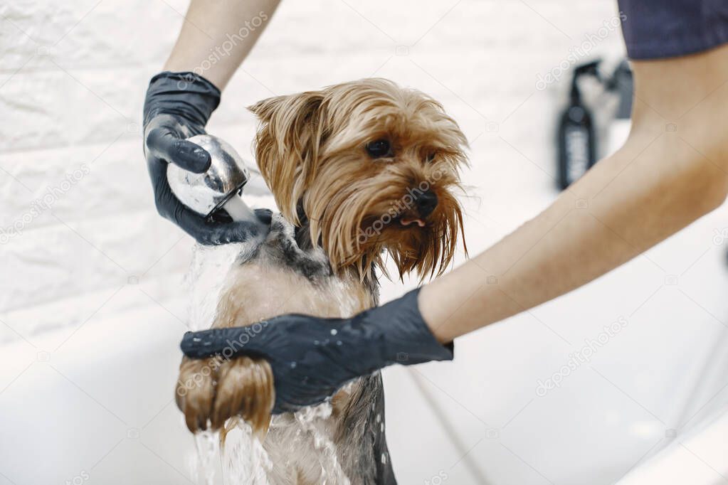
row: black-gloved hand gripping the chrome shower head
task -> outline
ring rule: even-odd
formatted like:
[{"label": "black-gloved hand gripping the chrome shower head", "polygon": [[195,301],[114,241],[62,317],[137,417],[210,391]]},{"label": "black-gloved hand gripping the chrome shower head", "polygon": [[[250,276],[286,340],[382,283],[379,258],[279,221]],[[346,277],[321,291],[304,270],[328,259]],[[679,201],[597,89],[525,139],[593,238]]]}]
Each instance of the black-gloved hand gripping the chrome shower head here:
[{"label": "black-gloved hand gripping the chrome shower head", "polygon": [[200,244],[245,241],[262,229],[249,222],[206,220],[178,201],[167,183],[167,164],[196,173],[210,167],[210,153],[185,138],[205,133],[219,103],[220,90],[207,79],[168,71],[151,79],[144,101],[144,155],[157,211]]}]

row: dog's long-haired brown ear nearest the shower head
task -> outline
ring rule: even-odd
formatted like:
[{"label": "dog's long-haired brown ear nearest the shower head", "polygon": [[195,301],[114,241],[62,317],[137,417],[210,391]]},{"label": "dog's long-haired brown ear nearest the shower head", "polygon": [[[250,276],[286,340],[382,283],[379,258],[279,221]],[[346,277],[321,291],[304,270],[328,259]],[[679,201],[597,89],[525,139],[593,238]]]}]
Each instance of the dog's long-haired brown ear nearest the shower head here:
[{"label": "dog's long-haired brown ear nearest the shower head", "polygon": [[260,122],[254,143],[258,167],[282,215],[295,224],[296,205],[315,178],[325,136],[322,102],[321,92],[302,92],[248,108]]}]

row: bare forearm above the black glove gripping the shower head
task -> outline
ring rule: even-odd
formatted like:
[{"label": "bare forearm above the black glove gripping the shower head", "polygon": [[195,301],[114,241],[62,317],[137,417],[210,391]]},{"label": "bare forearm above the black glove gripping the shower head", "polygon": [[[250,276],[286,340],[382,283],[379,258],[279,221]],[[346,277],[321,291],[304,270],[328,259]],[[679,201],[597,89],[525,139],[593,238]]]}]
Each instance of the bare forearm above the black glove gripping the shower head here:
[{"label": "bare forearm above the black glove gripping the shower head", "polygon": [[165,71],[192,71],[224,89],[280,0],[192,0]]}]

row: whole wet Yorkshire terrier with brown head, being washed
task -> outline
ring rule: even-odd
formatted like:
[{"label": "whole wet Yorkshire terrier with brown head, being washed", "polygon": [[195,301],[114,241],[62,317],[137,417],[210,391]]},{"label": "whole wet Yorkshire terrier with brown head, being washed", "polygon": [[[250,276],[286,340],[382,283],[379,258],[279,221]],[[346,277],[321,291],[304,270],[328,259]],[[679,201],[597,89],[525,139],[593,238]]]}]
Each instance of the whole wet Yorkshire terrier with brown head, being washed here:
[{"label": "whole wet Yorkshire terrier with brown head, being washed", "polygon": [[[446,269],[462,234],[454,192],[467,140],[440,103],[392,81],[362,79],[249,109],[259,120],[258,167],[280,215],[229,270],[213,327],[252,328],[283,313],[353,316],[378,304],[376,273],[387,275],[387,254],[400,278]],[[269,483],[323,483],[327,451],[312,430],[293,414],[271,418],[273,377],[264,359],[183,358],[176,395],[193,433],[221,429],[224,439],[237,419],[248,422],[273,463]],[[349,483],[395,484],[379,373],[339,390],[315,426]]]}]

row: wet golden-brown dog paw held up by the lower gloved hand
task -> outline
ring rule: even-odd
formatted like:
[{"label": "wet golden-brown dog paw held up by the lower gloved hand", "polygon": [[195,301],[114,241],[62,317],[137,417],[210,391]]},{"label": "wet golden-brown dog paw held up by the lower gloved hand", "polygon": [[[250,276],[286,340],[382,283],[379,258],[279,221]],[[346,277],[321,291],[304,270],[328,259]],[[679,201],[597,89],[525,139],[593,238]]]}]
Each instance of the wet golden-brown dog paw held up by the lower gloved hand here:
[{"label": "wet golden-brown dog paw held up by the lower gloved hand", "polygon": [[221,429],[235,416],[265,433],[275,400],[273,372],[264,359],[185,357],[175,395],[192,433]]}]

